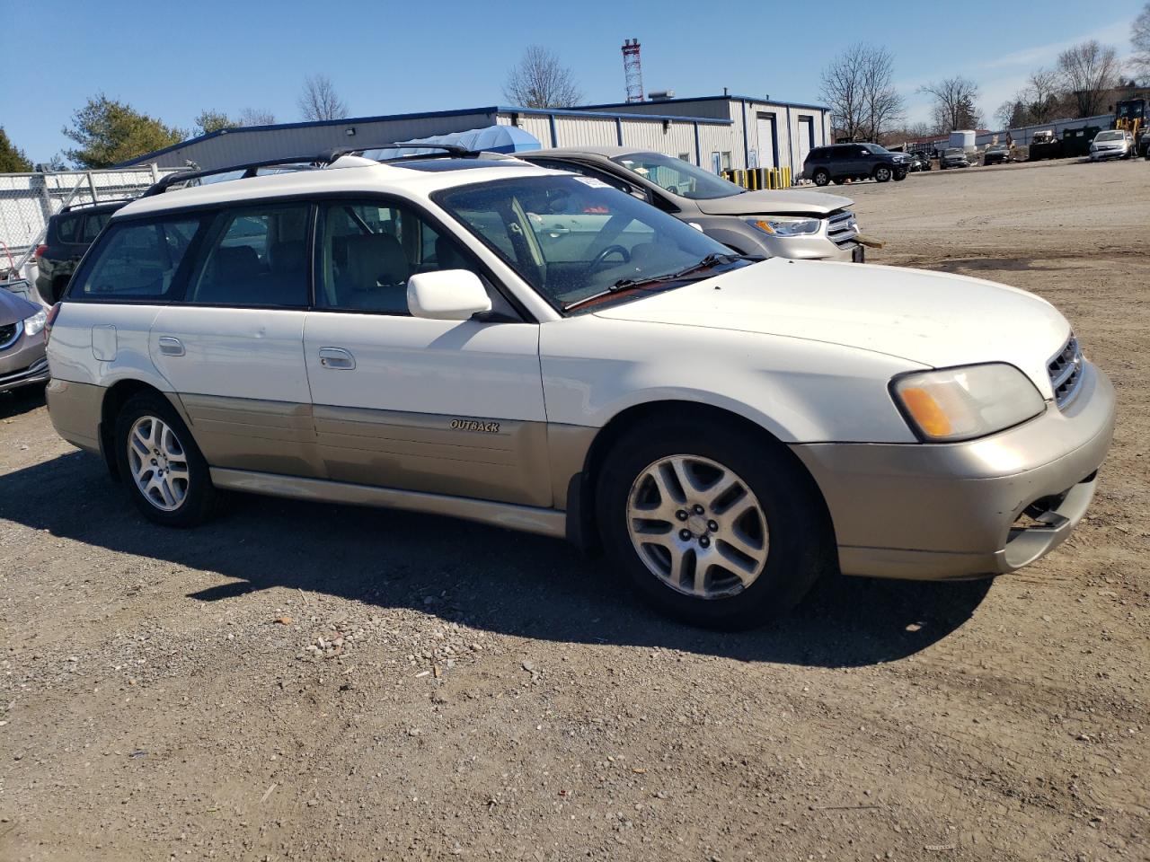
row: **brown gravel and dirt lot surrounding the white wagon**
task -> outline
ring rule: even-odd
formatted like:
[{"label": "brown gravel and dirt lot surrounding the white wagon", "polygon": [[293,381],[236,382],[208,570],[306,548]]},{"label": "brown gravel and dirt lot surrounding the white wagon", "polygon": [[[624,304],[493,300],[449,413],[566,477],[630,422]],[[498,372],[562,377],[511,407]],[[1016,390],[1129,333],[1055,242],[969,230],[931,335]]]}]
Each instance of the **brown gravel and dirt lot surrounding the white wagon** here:
[{"label": "brown gravel and dirt lot surrounding the white wagon", "polygon": [[147,525],[7,397],[0,859],[1147,859],[1150,162],[836,191],[874,262],[1033,290],[1114,379],[1061,549],[714,634],[467,523],[239,498]]}]

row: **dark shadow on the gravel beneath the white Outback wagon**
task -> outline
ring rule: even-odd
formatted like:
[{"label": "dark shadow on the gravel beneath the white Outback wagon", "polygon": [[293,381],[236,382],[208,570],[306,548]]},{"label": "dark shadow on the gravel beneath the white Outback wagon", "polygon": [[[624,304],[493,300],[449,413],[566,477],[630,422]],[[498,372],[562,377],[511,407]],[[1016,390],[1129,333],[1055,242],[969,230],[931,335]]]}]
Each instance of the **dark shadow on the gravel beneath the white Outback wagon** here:
[{"label": "dark shadow on the gravel beneath the white Outback wagon", "polygon": [[[102,462],[83,453],[0,476],[0,517],[227,579],[189,593],[195,603],[243,602],[288,587],[524,638],[813,667],[913,655],[966,622],[991,583],[833,578],[767,628],[710,632],[657,615],[601,559],[588,560],[564,541],[445,517],[237,494],[210,524],[154,526]],[[350,606],[345,615],[359,613]]]}]

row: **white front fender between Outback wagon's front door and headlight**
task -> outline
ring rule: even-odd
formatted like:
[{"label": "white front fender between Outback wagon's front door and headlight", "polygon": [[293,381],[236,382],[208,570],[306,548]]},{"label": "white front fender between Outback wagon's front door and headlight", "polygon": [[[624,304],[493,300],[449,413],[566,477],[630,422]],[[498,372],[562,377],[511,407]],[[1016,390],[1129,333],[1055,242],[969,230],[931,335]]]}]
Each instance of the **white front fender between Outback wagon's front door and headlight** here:
[{"label": "white front fender between Outback wagon's front door and headlight", "polygon": [[540,331],[547,421],[603,428],[638,405],[689,401],[783,442],[915,442],[888,384],[923,368],[853,347],[584,315]]}]

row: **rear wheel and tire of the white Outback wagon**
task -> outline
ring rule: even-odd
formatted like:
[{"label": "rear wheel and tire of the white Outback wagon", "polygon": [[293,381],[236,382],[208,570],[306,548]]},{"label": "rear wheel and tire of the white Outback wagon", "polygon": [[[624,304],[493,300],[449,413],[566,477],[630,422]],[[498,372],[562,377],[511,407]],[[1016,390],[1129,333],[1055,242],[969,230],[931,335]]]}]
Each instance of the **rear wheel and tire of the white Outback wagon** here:
[{"label": "rear wheel and tire of the white Outback wagon", "polygon": [[133,395],[116,416],[116,464],[143,515],[164,526],[194,526],[214,510],[207,461],[163,395]]}]

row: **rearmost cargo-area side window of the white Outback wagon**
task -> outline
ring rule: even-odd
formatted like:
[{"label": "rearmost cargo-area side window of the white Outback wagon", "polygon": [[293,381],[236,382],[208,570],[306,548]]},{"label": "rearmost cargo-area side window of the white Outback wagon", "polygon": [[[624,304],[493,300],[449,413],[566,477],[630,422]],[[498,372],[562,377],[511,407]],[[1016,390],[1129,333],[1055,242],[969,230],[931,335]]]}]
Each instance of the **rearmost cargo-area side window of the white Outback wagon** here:
[{"label": "rearmost cargo-area side window of the white Outback wagon", "polygon": [[200,220],[175,216],[115,224],[69,299],[167,300]]}]

